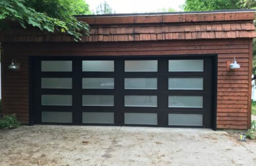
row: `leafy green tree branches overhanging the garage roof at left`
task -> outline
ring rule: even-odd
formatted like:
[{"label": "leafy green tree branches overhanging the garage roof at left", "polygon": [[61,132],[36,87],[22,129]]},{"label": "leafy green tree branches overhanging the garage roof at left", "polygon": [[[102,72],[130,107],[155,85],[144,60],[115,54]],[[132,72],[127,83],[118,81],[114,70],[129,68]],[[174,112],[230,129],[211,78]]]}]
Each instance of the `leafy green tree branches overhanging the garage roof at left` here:
[{"label": "leafy green tree branches overhanging the garage roof at left", "polygon": [[89,25],[73,15],[88,12],[88,5],[82,0],[1,0],[0,28],[7,28],[6,20],[12,20],[23,28],[31,25],[41,31],[67,32],[77,41],[89,34]]}]

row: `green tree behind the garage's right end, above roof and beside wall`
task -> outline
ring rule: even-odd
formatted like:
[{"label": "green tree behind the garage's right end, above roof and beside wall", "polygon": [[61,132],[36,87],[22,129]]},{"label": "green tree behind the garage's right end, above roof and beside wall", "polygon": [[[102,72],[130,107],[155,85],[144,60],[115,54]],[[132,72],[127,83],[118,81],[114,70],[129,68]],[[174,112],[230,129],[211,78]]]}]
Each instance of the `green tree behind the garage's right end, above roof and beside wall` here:
[{"label": "green tree behind the garage's right end, above roof and beside wall", "polygon": [[[182,6],[185,11],[255,9],[255,0],[186,0]],[[254,20],[254,26],[256,21]],[[256,39],[253,39],[252,80],[256,79]],[[256,84],[256,82],[255,82]]]}]

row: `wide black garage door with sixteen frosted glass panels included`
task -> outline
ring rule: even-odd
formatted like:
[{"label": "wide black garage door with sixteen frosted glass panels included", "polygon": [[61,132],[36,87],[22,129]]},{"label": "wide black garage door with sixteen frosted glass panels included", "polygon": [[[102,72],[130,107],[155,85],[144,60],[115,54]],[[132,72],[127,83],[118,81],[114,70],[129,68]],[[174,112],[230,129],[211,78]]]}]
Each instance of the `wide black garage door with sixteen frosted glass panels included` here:
[{"label": "wide black garage door with sixteen frosted glass panels included", "polygon": [[213,59],[38,57],[35,123],[212,128]]}]

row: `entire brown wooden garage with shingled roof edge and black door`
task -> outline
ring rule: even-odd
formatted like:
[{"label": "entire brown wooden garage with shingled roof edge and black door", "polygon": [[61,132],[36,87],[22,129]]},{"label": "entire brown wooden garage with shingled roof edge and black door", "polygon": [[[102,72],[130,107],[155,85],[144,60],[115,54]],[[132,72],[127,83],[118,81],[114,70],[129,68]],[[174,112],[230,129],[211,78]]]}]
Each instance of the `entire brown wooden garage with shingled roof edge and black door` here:
[{"label": "entire brown wooden garage with shingled roof edge and black door", "polygon": [[79,41],[0,30],[3,114],[27,125],[250,128],[254,10],[76,18],[90,25]]}]

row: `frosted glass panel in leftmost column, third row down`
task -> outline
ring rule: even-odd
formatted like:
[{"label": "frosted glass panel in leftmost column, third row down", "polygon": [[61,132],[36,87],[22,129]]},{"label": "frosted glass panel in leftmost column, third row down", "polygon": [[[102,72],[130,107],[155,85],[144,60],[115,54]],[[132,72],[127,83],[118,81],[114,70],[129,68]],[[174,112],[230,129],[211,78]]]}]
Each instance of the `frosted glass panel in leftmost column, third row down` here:
[{"label": "frosted glass panel in leftmost column, third row down", "polygon": [[72,95],[42,94],[41,104],[45,106],[72,106]]}]

